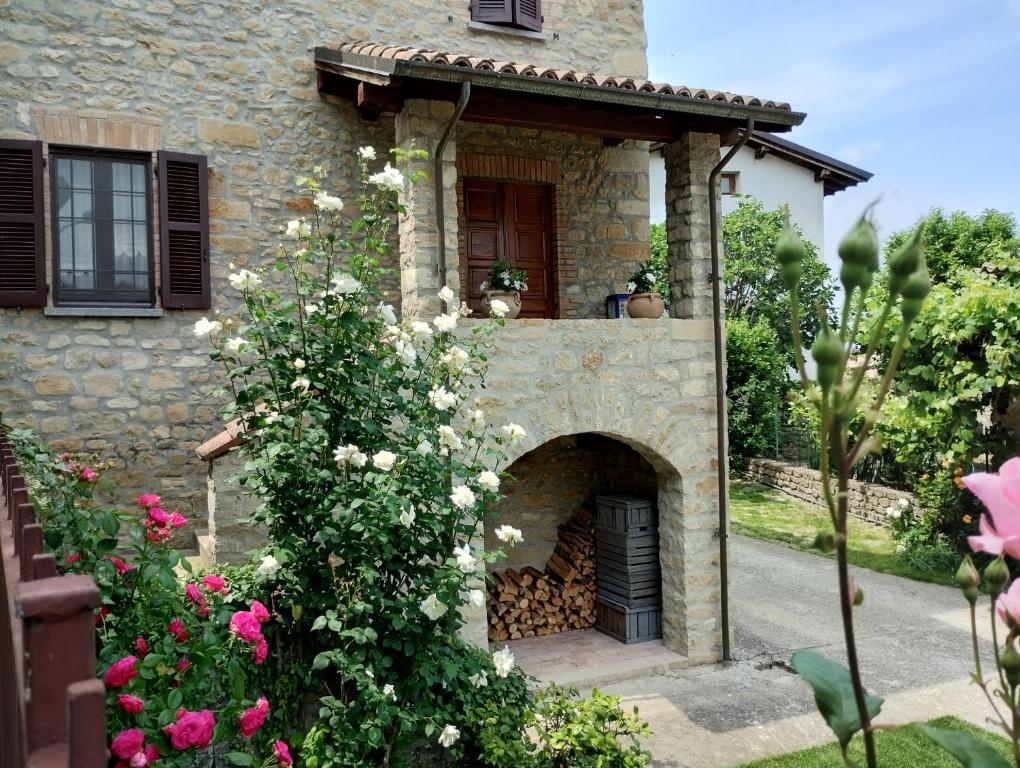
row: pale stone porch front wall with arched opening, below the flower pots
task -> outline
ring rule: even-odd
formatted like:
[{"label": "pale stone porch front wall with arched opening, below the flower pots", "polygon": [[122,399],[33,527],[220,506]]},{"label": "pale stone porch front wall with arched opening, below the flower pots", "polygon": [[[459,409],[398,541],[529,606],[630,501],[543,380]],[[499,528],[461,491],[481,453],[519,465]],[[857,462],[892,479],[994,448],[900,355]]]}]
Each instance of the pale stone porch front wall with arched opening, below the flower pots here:
[{"label": "pale stone porch front wall with arched opening, below the flower pots", "polygon": [[716,661],[711,321],[518,319],[497,334],[490,359],[479,407],[493,423],[511,420],[527,431],[511,462],[557,438],[595,432],[655,470],[664,641],[693,663]]}]

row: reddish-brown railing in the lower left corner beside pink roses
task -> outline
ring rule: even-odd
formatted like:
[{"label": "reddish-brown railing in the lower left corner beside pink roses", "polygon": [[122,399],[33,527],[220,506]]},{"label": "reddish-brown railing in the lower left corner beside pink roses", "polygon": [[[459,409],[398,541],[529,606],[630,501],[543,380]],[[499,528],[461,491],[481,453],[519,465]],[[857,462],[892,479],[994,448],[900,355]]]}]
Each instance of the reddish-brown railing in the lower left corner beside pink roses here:
[{"label": "reddish-brown railing in the lower left corner beside pink roses", "polygon": [[0,763],[103,768],[106,690],[96,678],[89,576],[57,575],[43,527],[0,427]]}]

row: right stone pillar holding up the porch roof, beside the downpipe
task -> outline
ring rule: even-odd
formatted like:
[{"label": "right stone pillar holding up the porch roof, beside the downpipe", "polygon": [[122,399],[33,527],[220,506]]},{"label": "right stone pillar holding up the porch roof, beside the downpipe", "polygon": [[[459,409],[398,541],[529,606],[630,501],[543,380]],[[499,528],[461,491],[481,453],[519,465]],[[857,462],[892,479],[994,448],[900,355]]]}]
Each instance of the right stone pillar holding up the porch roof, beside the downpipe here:
[{"label": "right stone pillar holding up the porch roof, beside the downpipe", "polygon": [[[708,174],[719,162],[719,137],[684,134],[663,148],[663,158],[666,162],[670,314],[684,319],[711,318]],[[721,231],[719,237],[722,237]]]}]

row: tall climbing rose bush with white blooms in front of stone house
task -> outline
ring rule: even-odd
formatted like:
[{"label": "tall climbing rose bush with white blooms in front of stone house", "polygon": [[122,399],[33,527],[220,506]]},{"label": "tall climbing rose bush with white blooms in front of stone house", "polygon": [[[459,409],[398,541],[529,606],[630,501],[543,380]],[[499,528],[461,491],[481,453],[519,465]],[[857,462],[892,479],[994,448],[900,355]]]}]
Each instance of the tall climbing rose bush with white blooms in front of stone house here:
[{"label": "tall climbing rose bush with white blooms in front of stone house", "polygon": [[470,310],[449,289],[434,318],[400,319],[387,303],[398,193],[424,153],[395,151],[380,171],[375,156],[358,151],[354,199],[325,191],[320,169],[298,180],[313,213],[280,227],[271,268],[231,275],[237,319],[195,327],[224,366],[241,480],[261,502],[252,523],[268,530],[252,567],[280,617],[277,676],[295,695],[324,693],[305,765],[406,765],[421,739],[467,756],[474,735],[450,692],[503,706],[524,689],[509,651],[469,651],[457,635],[464,607],[484,606],[484,563],[501,553],[482,551],[481,521],[524,437],[471,399],[504,321],[462,327]]}]

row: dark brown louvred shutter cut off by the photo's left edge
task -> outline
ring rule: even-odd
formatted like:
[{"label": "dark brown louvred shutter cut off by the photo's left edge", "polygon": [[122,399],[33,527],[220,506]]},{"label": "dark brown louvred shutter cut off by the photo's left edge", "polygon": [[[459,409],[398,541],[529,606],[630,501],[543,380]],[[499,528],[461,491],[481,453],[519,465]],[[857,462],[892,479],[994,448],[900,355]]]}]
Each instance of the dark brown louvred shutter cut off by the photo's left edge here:
[{"label": "dark brown louvred shutter cut off by the photo's left edge", "polygon": [[0,307],[46,306],[42,142],[0,141]]}]

